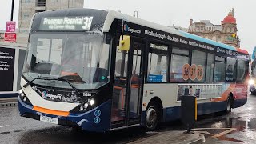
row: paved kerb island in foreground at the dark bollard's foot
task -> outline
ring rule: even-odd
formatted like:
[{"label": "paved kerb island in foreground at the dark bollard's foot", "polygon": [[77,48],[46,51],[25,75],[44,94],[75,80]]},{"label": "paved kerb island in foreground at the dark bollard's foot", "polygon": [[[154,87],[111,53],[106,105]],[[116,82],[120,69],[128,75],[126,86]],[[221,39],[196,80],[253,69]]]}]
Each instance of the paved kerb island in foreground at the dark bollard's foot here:
[{"label": "paved kerb island in foreground at the dark bollard's foot", "polygon": [[148,138],[138,139],[137,141],[130,142],[130,144],[198,144],[205,142],[203,134],[194,132],[194,134],[184,134],[184,131],[168,131],[162,134],[156,134]]}]

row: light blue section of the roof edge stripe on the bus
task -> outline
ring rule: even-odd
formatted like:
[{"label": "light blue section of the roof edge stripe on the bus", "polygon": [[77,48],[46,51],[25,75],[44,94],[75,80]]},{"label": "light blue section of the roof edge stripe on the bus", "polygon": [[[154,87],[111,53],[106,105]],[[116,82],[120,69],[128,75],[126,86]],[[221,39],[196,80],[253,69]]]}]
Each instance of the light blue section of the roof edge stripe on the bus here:
[{"label": "light blue section of the roof edge stripe on the bus", "polygon": [[199,41],[199,42],[206,42],[206,43],[209,43],[211,45],[214,45],[214,46],[220,46],[222,48],[226,48],[228,50],[234,50],[234,51],[237,51],[233,46],[228,46],[226,44],[223,44],[223,43],[220,43],[220,42],[214,42],[210,39],[206,39],[206,38],[202,38],[202,37],[199,37],[197,35],[194,35],[194,34],[189,34],[189,33],[186,33],[184,31],[180,31],[180,33],[186,37],[186,38],[191,38],[191,39],[194,39],[196,41]]}]

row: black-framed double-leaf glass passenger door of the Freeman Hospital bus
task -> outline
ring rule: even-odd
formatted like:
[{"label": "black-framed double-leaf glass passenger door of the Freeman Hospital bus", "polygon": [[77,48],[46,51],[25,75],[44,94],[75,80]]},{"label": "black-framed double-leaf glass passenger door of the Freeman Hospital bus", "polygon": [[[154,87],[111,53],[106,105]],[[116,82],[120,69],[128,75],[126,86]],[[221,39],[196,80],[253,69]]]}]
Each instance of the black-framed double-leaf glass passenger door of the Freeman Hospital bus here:
[{"label": "black-framed double-leaf glass passenger door of the Freeman Hospital bus", "polygon": [[[118,43],[118,42],[117,42]],[[142,50],[145,42],[131,39],[130,50],[116,50],[111,128],[140,123],[142,109]]]}]

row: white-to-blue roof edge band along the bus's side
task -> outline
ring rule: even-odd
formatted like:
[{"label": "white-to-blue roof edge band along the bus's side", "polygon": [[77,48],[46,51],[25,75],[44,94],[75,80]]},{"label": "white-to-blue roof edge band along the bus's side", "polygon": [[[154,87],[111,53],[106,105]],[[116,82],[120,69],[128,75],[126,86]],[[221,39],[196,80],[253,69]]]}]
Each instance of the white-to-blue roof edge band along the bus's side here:
[{"label": "white-to-blue roof edge band along the bus's side", "polygon": [[214,45],[214,46],[220,46],[220,47],[225,48],[227,50],[234,50],[234,51],[238,51],[238,52],[243,53],[243,54],[248,54],[248,52],[246,50],[242,50],[242,49],[236,48],[234,46],[229,46],[229,45],[226,45],[226,44],[221,43],[221,42],[215,42],[215,41],[207,39],[207,38],[202,38],[198,35],[186,33],[185,31],[176,30],[174,28],[170,28],[170,27],[167,27],[167,26],[162,26],[162,25],[159,25],[159,24],[154,23],[154,22],[149,22],[149,21],[143,20],[141,18],[135,18],[135,17],[132,17],[130,15],[122,14],[120,12],[113,11],[113,10],[108,11],[106,21],[105,21],[105,24],[103,26],[103,32],[108,32],[110,30],[110,26],[111,26],[112,22],[114,21],[114,19],[122,19],[126,22],[132,22],[132,23],[135,23],[135,24],[138,24],[138,25],[141,25],[141,26],[146,26],[146,27],[153,28],[155,30],[161,30],[161,31],[164,31],[164,32],[167,32],[167,33],[170,33],[170,34],[176,34],[178,36],[182,36],[182,37],[185,37],[185,38],[191,38],[191,39],[194,39],[198,42],[205,42],[205,43],[209,43],[209,44]]}]

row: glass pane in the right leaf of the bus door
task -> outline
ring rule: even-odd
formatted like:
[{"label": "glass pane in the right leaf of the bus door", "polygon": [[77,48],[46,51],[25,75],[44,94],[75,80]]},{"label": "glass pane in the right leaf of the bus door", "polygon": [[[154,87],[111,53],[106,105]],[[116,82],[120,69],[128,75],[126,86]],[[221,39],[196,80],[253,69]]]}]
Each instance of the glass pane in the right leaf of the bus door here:
[{"label": "glass pane in the right leaf of the bus door", "polygon": [[139,103],[141,94],[140,71],[141,71],[141,50],[138,43],[134,43],[133,70],[130,82],[130,118],[138,118]]}]

